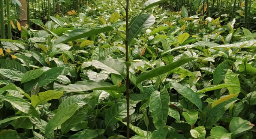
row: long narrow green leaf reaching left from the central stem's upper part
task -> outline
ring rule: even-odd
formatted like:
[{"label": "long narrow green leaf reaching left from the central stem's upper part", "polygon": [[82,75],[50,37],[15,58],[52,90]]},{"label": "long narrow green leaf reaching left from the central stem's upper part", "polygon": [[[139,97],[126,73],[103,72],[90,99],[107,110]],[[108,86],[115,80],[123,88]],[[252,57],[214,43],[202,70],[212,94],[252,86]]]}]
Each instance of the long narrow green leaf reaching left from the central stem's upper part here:
[{"label": "long narrow green leaf reaching left from the central stem's upper part", "polygon": [[54,41],[54,45],[58,43],[66,43],[69,41],[75,41],[76,39],[81,39],[84,37],[90,37],[99,33],[107,32],[107,31],[112,31],[114,30],[111,26],[106,26],[106,27],[95,27],[93,29],[75,29],[68,33],[67,35],[63,35],[56,39]]}]

